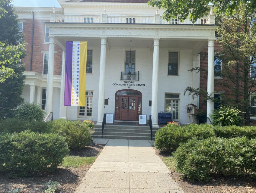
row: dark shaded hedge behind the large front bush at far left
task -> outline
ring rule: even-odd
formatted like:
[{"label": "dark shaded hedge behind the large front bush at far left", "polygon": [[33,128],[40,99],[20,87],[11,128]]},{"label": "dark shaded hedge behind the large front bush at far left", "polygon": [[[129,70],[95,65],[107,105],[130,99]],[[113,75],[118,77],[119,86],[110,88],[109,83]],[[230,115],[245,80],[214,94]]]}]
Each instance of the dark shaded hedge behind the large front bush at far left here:
[{"label": "dark shaded hedge behind the large front bush at far left", "polygon": [[0,120],[0,133],[14,133],[30,130],[38,133],[48,133],[51,131],[49,122],[44,121],[24,121],[15,118],[8,118]]}]

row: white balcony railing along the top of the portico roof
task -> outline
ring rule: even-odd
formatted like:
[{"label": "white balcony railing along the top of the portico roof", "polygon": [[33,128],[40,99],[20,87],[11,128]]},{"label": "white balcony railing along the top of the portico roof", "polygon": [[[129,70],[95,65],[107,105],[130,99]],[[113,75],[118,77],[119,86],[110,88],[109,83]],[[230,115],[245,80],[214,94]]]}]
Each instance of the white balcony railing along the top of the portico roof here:
[{"label": "white balcony railing along the top of the portico roof", "polygon": [[[77,15],[56,15],[53,14],[51,17],[51,22],[57,23],[128,23],[128,24],[193,24],[189,19],[181,22],[179,19],[171,19],[171,21],[166,21],[159,15],[155,16],[108,16],[107,14],[102,15],[87,15],[87,16],[77,16]],[[210,15],[209,17],[203,17],[198,19],[195,24],[205,25],[205,24],[215,24],[215,16]]]}]

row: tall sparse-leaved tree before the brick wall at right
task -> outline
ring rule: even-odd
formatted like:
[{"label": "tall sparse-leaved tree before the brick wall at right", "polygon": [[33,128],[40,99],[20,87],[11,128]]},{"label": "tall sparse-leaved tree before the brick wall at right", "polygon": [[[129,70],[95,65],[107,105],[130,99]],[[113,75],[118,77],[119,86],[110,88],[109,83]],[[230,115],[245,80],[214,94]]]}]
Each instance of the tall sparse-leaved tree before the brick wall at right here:
[{"label": "tall sparse-leaved tree before the brick wall at right", "polygon": [[[256,9],[248,9],[248,6],[250,3],[239,5],[232,14],[221,18],[216,41],[222,51],[215,54],[215,58],[222,61],[220,76],[223,79],[217,82],[226,90],[222,100],[243,111],[245,125],[250,125],[252,113],[256,115],[251,109],[256,106],[256,23],[253,22]],[[213,100],[213,96],[202,89],[187,87],[184,94],[186,92],[193,97],[201,94],[207,100]]]}]

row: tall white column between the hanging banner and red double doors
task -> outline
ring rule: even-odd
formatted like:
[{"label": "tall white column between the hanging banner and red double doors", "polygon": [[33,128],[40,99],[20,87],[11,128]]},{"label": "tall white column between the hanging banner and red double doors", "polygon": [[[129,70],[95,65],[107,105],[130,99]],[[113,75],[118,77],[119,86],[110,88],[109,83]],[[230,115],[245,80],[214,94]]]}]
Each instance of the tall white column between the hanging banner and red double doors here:
[{"label": "tall white column between the hanging banner and red double doors", "polygon": [[99,81],[99,100],[98,100],[97,125],[102,124],[103,115],[104,115],[106,43],[107,43],[107,38],[101,38],[101,61],[100,61],[100,81]]}]

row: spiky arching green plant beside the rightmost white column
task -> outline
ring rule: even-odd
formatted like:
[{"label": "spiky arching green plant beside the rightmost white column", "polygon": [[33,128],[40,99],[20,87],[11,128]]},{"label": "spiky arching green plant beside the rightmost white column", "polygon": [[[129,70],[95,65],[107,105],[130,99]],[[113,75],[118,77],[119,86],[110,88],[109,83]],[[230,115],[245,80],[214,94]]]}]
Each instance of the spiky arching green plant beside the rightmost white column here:
[{"label": "spiky arching green plant beside the rightmost white column", "polygon": [[224,107],[220,105],[219,109],[213,111],[210,115],[213,125],[229,126],[240,125],[242,123],[242,111],[237,107]]}]

